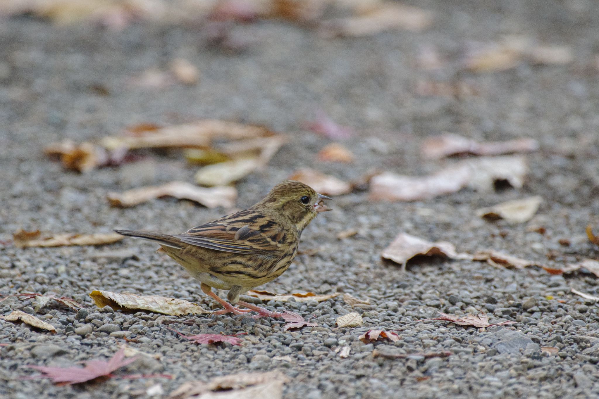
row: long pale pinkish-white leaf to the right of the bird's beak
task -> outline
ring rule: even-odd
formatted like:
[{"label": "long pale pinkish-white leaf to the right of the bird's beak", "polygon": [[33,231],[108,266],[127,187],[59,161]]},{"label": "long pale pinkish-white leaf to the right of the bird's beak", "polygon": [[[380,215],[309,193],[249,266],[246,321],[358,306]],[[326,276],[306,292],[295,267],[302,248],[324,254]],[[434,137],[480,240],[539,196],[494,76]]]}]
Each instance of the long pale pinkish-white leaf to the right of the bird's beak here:
[{"label": "long pale pinkish-white leaf to the right of the bird's beak", "polygon": [[521,156],[464,160],[428,176],[401,176],[383,172],[370,179],[370,199],[416,201],[455,193],[464,187],[489,191],[496,181],[501,180],[521,188],[527,172],[527,163]]}]

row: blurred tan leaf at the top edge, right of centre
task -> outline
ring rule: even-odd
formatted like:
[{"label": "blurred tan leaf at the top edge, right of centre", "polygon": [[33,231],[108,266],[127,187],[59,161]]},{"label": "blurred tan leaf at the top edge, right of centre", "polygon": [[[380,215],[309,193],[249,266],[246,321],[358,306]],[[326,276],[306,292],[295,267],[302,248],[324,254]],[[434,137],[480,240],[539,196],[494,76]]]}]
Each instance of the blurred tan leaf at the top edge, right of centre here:
[{"label": "blurred tan leaf at the top edge, right of centre", "polygon": [[389,29],[420,32],[432,24],[432,13],[397,2],[383,1],[364,13],[326,21],[322,32],[332,36],[370,36]]}]

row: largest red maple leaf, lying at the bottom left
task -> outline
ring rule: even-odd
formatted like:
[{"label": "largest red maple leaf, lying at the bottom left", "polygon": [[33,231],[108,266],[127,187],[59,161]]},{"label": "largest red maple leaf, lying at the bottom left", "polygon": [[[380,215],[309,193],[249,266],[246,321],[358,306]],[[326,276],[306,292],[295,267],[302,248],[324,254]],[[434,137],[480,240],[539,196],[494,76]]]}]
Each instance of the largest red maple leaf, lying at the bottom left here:
[{"label": "largest red maple leaf, lying at the bottom left", "polygon": [[40,370],[44,374],[39,376],[32,376],[32,378],[44,378],[49,377],[52,382],[58,383],[59,385],[70,385],[89,380],[96,379],[98,377],[113,377],[112,372],[123,366],[127,366],[129,363],[135,361],[137,357],[132,357],[125,360],[125,349],[121,348],[120,351],[116,352],[114,356],[108,360],[90,360],[85,362],[86,366],[81,367],[47,367],[47,366],[25,366],[29,368],[35,368]]}]

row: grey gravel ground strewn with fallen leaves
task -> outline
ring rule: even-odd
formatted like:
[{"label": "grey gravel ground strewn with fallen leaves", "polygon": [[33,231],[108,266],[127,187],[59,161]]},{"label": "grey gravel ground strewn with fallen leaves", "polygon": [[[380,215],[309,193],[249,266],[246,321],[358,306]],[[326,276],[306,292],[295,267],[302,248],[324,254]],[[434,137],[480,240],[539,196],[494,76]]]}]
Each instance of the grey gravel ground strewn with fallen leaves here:
[{"label": "grey gravel ground strewn with fallen leaves", "polygon": [[[587,273],[565,278],[544,270],[499,269],[467,260],[427,258],[402,274],[380,260],[400,232],[455,243],[459,251],[498,249],[560,267],[597,258],[586,240],[587,224],[599,226],[599,73],[590,65],[597,50],[599,9],[592,0],[419,2],[435,13],[424,33],[391,32],[371,38],[326,39],[282,22],[238,27],[254,39],[249,50],[228,54],[204,45],[201,32],[132,26],[123,32],[92,27],[56,28],[32,19],[0,23],[0,239],[15,230],[110,232],[113,228],[181,232],[232,209],[205,209],[186,201],[155,200],[130,209],[110,208],[108,191],[173,179],[192,181],[195,168],[176,154],[87,175],[65,172],[41,153],[50,141],[93,139],[142,122],[173,124],[198,117],[261,123],[292,136],[270,166],[241,181],[238,206],[261,199],[298,167],[312,166],[340,178],[372,167],[415,174],[447,162],[424,162],[421,138],[439,132],[477,139],[536,138],[541,151],[527,156],[531,173],[522,190],[463,190],[413,203],[371,203],[358,191],[337,197],[334,212],[320,215],[304,232],[303,251],[283,276],[264,286],[279,293],[350,293],[370,299],[356,307],[364,327],[335,328],[352,311],[341,296],[321,303],[270,302],[271,308],[315,315],[319,327],[283,331],[283,322],[242,316],[181,318],[168,327],[187,333],[246,332],[243,346],[197,345],[176,336],[154,313],[96,309],[94,289],[177,297],[214,307],[199,284],[156,245],[125,239],[102,248],[0,248],[0,293],[19,291],[69,296],[85,304],[74,312],[50,303],[37,314],[56,327],[41,333],[0,319],[0,396],[10,398],[126,398],[147,396],[159,382],[165,394],[188,380],[240,371],[280,370],[290,382],[286,398],[496,398],[596,397],[599,394],[599,313],[574,287],[599,294]],[[459,70],[456,54],[470,41],[505,34],[568,44],[568,66],[531,66],[473,75]],[[424,71],[416,56],[435,45],[449,59],[440,71]],[[202,72],[198,86],[163,90],[129,87],[131,77],[184,57]],[[476,87],[474,96],[419,96],[419,80]],[[101,96],[89,89],[107,88]],[[359,131],[346,145],[351,165],[319,163],[326,139],[301,130],[322,107]],[[562,139],[578,143],[563,149]],[[586,141],[585,141],[586,140]],[[561,144],[560,144],[561,143]],[[561,150],[559,148],[562,148]],[[452,162],[452,161],[449,161]],[[528,195],[543,197],[528,223],[510,226],[480,220],[474,210]],[[534,227],[543,227],[544,233]],[[336,234],[357,229],[355,236]],[[537,229],[538,230],[538,229]],[[569,246],[559,243],[570,240]],[[551,299],[552,298],[552,299]],[[31,301],[0,303],[3,314],[33,313]],[[484,310],[492,320],[517,321],[487,330],[420,321],[437,311]],[[183,324],[191,319],[195,324]],[[394,345],[368,345],[358,337],[371,328],[400,330]],[[131,373],[168,373],[173,379],[111,379],[82,386],[19,380],[26,364],[68,364],[111,356],[125,343],[151,354],[128,366]],[[349,357],[334,352],[349,345]],[[555,346],[549,355],[540,346]],[[447,358],[415,355],[373,358],[373,349],[401,354],[452,352]]]}]

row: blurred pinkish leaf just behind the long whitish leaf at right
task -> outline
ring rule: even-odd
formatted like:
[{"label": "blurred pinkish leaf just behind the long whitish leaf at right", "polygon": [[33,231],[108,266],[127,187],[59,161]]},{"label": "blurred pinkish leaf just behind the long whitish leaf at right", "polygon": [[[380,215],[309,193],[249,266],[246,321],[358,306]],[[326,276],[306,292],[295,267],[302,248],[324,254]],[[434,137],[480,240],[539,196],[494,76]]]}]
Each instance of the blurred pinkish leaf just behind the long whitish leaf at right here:
[{"label": "blurred pinkish leaf just behind the long whitish leaf at right", "polygon": [[420,151],[425,158],[441,159],[456,154],[503,155],[510,153],[530,153],[539,150],[539,142],[521,138],[508,141],[476,142],[459,135],[445,133],[426,139]]}]

